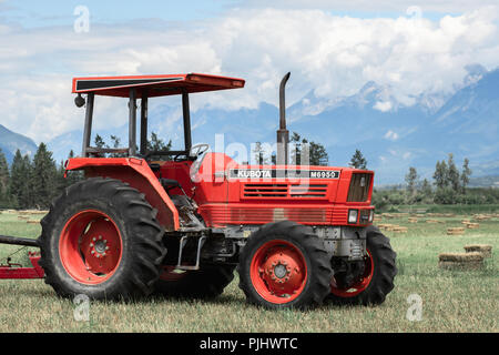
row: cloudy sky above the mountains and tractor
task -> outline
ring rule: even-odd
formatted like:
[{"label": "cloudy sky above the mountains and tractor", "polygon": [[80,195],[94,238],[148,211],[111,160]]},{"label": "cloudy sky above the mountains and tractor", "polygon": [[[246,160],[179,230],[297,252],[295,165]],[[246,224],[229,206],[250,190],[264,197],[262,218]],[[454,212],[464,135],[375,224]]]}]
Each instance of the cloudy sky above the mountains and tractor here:
[{"label": "cloudy sky above the mountains and tractor", "polygon": [[[410,105],[415,95],[455,90],[468,64],[499,64],[496,2],[0,0],[0,123],[35,142],[79,129],[71,79],[100,74],[246,79],[244,91],[193,99],[194,110],[276,104],[287,71],[289,103],[309,92],[334,101],[374,81]],[[90,11],[89,32],[73,29],[77,6]],[[113,103],[100,110],[105,124],[123,124]]]}]

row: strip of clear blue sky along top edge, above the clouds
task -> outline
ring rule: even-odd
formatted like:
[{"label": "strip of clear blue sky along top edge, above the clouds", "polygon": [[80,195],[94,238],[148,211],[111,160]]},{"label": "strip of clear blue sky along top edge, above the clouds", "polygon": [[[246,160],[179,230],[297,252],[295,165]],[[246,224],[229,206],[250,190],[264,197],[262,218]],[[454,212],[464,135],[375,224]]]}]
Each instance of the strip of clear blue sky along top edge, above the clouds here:
[{"label": "strip of clear blue sky along top edge, above the clouds", "polygon": [[[395,2],[395,1],[394,1]],[[419,1],[411,1],[417,6]],[[438,1],[437,1],[438,2]],[[441,1],[440,1],[441,2]],[[345,3],[336,1],[291,1],[289,9],[319,8],[336,16],[349,16],[357,18],[397,18],[401,10],[408,6],[401,4],[378,8],[352,8]],[[427,4],[428,2],[426,2]],[[466,7],[452,7],[450,1],[446,10],[435,8],[435,6],[419,7],[425,9],[424,16],[427,19],[438,20],[447,14],[459,14]],[[92,20],[99,23],[128,22],[136,19],[160,19],[163,21],[195,21],[215,18],[224,14],[231,9],[254,9],[265,7],[282,7],[279,1],[244,1],[244,0],[184,0],[184,1],[120,1],[120,0],[64,0],[64,1],[39,1],[39,0],[4,0],[0,1],[0,9],[3,9],[2,17],[8,21],[21,24],[24,28],[68,26],[73,21],[73,9],[77,6],[86,6],[91,9]]]}]

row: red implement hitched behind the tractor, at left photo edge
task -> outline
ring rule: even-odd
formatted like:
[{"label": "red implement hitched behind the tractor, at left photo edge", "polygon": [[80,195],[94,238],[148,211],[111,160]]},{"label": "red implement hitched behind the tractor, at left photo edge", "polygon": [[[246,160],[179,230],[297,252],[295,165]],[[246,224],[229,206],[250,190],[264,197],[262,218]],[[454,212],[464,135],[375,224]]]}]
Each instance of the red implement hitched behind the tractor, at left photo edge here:
[{"label": "red implement hitched behind the tractor, at left photo edge", "polygon": [[[27,237],[0,235],[0,244],[22,245],[39,247],[37,240]],[[39,252],[29,252],[28,257],[33,267],[23,267],[21,264],[11,263],[10,257],[7,257],[7,264],[0,264],[0,280],[1,278],[43,278],[43,268],[38,264],[40,260]]]}]

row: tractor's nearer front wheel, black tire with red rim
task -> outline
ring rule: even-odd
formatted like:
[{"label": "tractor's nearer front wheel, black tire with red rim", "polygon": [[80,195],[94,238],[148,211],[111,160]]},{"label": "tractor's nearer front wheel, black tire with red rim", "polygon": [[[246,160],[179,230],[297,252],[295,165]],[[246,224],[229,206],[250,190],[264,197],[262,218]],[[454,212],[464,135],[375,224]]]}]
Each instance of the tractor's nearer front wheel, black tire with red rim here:
[{"label": "tractor's nearer front wheel, black tire with red rim", "polygon": [[267,308],[320,304],[333,275],[324,243],[310,227],[291,221],[269,223],[253,233],[237,272],[247,301]]}]

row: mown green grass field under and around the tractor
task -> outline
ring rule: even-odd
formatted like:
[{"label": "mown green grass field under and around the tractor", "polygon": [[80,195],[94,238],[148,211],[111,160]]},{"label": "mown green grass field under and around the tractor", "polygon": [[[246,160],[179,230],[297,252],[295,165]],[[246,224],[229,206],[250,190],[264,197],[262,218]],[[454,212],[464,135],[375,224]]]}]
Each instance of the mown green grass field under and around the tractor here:
[{"label": "mown green grass field under and around the tractor", "polygon": [[[160,297],[133,303],[92,302],[90,321],[78,322],[72,301],[58,298],[43,281],[6,280],[0,281],[0,332],[498,332],[499,220],[480,222],[478,230],[467,230],[460,236],[446,235],[446,229],[461,226],[462,216],[437,220],[444,223],[409,224],[407,217],[386,221],[409,231],[385,232],[397,252],[399,274],[395,290],[377,307],[261,310],[245,303],[236,276],[212,302]],[[37,237],[39,233],[39,224],[28,224],[13,213],[0,214],[0,234]],[[438,268],[439,253],[464,252],[464,245],[476,243],[493,247],[492,258],[486,260],[482,270]],[[1,245],[1,263],[18,248]],[[28,265],[26,254],[27,250],[20,251],[12,262]],[[411,294],[422,300],[420,322],[406,317]]]}]

